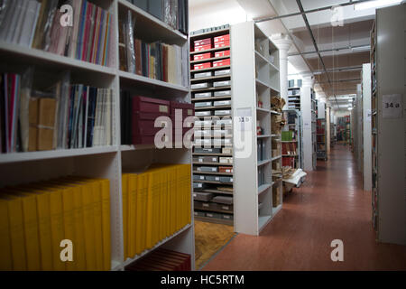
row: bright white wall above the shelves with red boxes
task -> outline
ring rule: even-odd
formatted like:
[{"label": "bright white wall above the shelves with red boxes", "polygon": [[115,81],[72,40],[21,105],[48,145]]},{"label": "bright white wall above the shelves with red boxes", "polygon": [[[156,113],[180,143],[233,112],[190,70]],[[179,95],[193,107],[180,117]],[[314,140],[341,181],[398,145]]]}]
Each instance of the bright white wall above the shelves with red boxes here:
[{"label": "bright white wall above the shelves with red boxes", "polygon": [[250,21],[236,0],[190,0],[189,31]]}]

